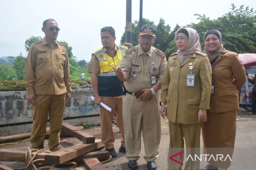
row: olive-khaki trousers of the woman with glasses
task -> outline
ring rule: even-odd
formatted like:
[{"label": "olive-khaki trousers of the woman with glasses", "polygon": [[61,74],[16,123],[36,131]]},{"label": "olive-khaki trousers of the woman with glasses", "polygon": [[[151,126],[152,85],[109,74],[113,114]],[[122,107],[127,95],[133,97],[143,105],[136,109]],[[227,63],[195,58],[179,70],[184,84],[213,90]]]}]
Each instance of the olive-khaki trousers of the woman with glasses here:
[{"label": "olive-khaki trousers of the woman with glasses", "polygon": [[[167,113],[168,114],[168,113]],[[194,154],[200,154],[200,134],[201,123],[197,124],[180,124],[169,121],[170,144],[168,153],[168,169],[182,169],[182,165],[169,159],[170,156],[184,151],[184,139],[186,143],[187,158],[188,155],[194,158]],[[183,162],[183,158],[180,162]],[[179,160],[179,157],[173,159]],[[199,169],[199,161],[188,159],[184,169]]]}]

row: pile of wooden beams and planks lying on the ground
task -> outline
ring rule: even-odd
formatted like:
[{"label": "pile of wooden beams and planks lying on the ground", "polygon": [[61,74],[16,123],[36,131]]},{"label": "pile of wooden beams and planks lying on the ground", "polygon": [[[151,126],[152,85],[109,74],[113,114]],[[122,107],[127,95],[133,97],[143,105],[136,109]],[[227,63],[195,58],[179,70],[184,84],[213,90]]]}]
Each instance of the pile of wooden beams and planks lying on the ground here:
[{"label": "pile of wooden beams and planks lying on the ground", "polygon": [[[95,151],[99,148],[104,147],[104,144],[101,142],[101,139],[95,139],[94,136],[83,131],[83,128],[74,127],[68,123],[63,122],[62,128],[61,128],[61,134],[62,136],[66,136],[66,137],[67,136],[76,137],[83,143],[76,144],[68,148],[63,148],[51,153],[41,152],[36,155],[35,159],[44,159],[44,164],[49,164],[49,165],[53,165],[53,164],[59,165],[68,161],[72,161],[72,162],[76,162],[77,165],[83,164],[85,166],[85,167],[76,167],[77,170],[79,168],[92,169],[92,170],[96,170],[96,169],[121,170],[122,169],[120,165],[104,166],[103,164],[100,163],[100,161],[109,159],[109,153],[108,151]],[[28,137],[28,135],[30,137],[31,134],[16,135],[16,136],[13,135],[15,137],[13,136],[0,137],[0,143],[10,141],[10,139],[17,140],[18,137],[21,137],[21,138],[24,138],[24,136]],[[35,152],[31,153],[32,157],[34,153]],[[0,161],[25,162],[25,154],[26,154],[26,151],[20,151],[17,149],[0,149]],[[93,161],[94,163],[92,163]],[[97,164],[95,162],[97,162]],[[68,169],[68,168],[59,168],[59,169]]]}]

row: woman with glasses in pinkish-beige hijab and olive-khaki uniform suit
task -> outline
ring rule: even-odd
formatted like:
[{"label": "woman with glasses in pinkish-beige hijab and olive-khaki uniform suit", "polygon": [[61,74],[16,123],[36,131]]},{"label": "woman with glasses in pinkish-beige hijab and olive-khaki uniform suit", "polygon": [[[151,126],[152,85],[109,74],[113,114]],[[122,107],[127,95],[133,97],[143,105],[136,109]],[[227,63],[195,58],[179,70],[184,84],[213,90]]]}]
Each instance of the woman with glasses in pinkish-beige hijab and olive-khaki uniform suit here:
[{"label": "woman with glasses in pinkish-beige hijab and olive-khaki uniform suit", "polygon": [[[168,59],[161,88],[160,114],[168,118],[170,130],[168,169],[182,169],[184,139],[187,156],[199,154],[201,124],[209,109],[212,79],[211,64],[201,53],[196,30],[178,29],[175,41],[178,51]],[[182,159],[172,159],[175,154]],[[185,169],[199,169],[199,161],[186,161]]]}]

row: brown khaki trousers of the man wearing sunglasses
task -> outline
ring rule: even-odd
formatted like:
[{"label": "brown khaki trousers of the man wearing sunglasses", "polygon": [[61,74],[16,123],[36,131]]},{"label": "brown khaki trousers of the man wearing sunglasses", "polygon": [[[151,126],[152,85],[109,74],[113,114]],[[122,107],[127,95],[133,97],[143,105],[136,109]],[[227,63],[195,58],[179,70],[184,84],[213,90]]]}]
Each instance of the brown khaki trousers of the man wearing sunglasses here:
[{"label": "brown khaki trousers of the man wearing sunglasses", "polygon": [[32,148],[44,149],[47,118],[50,121],[50,151],[60,148],[60,131],[63,121],[66,93],[60,95],[36,95],[33,108],[33,125],[30,143]]}]

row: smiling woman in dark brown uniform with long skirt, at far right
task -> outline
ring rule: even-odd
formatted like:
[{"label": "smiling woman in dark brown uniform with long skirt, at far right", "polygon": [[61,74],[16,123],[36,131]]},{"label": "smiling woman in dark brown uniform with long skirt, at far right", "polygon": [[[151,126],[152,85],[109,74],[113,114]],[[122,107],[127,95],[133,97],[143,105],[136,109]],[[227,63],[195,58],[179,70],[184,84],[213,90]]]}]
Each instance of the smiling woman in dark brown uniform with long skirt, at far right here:
[{"label": "smiling woman in dark brown uniform with long skirt, at far right", "polygon": [[[202,125],[205,154],[223,154],[232,158],[236,137],[239,91],[246,81],[243,62],[238,55],[223,48],[221,33],[209,30],[204,35],[204,53],[212,64],[212,94],[207,122]],[[216,157],[215,157],[216,158]],[[204,169],[227,169],[226,161],[207,161]]]}]

